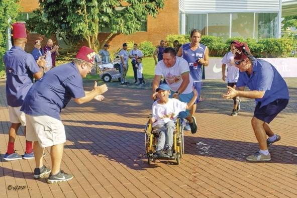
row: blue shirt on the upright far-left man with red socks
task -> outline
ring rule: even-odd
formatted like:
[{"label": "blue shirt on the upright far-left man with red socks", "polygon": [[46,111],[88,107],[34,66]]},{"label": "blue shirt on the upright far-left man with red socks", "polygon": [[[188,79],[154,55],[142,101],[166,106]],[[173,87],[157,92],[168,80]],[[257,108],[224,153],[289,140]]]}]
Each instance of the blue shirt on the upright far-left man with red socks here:
[{"label": "blue shirt on the upright far-left man with red socks", "polygon": [[11,107],[20,107],[33,84],[33,74],[39,72],[40,68],[31,54],[17,46],[6,52],[4,64],[7,77],[7,104]]}]

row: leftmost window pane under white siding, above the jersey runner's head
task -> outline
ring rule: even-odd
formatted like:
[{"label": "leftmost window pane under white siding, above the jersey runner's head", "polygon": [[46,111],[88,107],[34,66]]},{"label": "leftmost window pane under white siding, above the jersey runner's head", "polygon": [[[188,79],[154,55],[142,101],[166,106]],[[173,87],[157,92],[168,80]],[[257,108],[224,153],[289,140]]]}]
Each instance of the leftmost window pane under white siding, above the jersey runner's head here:
[{"label": "leftmost window pane under white siding, above the jersey runner's head", "polygon": [[192,29],[199,29],[202,35],[207,34],[207,15],[206,14],[186,14],[185,15],[185,34],[190,34]]}]

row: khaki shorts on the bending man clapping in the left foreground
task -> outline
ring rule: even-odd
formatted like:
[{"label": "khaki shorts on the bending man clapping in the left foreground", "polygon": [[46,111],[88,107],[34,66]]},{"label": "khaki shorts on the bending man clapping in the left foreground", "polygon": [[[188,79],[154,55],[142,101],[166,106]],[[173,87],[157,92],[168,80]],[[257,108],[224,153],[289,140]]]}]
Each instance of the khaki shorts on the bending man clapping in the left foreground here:
[{"label": "khaki shorts on the bending man clapping in the left foreground", "polygon": [[50,116],[25,115],[26,140],[38,141],[42,148],[66,142],[65,128],[60,120]]}]

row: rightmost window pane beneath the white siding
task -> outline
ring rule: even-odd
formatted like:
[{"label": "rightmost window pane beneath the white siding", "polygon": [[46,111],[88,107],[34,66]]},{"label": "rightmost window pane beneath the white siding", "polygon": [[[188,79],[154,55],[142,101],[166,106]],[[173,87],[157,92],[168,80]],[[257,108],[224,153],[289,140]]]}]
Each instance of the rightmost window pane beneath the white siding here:
[{"label": "rightmost window pane beneath the white siding", "polygon": [[277,38],[278,35],[277,13],[255,14],[255,38]]}]

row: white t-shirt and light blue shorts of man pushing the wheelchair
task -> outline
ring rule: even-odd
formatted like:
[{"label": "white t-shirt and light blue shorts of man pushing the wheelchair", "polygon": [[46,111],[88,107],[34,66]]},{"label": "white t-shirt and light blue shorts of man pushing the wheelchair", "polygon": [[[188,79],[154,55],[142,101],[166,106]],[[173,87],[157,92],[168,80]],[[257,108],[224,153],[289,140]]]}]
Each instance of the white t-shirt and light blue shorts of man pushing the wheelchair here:
[{"label": "white t-shirt and light blue shorts of man pushing the wheelchair", "polygon": [[[181,57],[176,57],[176,62],[172,67],[167,67],[163,60],[160,60],[155,68],[155,75],[163,75],[170,89],[174,92],[180,87],[182,83],[181,74],[184,72],[189,73],[190,69],[188,62]],[[193,79],[190,74],[189,79],[190,82],[182,94],[191,93],[193,91]]]}]

